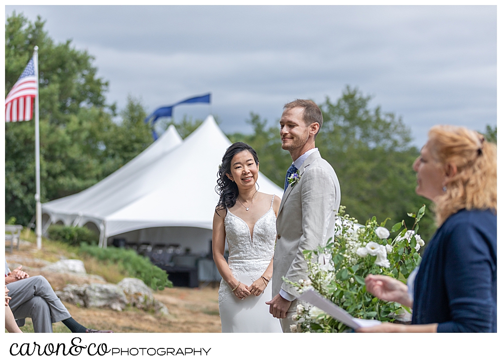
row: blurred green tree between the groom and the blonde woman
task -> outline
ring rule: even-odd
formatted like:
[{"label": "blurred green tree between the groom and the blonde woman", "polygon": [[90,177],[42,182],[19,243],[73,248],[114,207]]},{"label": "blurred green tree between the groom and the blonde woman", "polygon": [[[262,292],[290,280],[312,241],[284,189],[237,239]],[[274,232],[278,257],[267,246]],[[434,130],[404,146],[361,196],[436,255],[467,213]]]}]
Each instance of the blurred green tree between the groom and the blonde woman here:
[{"label": "blurred green tree between the groom and the blonde woman", "polygon": [[[320,105],[324,124],[316,146],[333,166],[341,188],[341,204],[364,222],[373,215],[395,223],[429,200],[416,195],[412,165],[419,155],[411,146],[410,130],[392,112],[371,108],[370,96],[347,86],[341,97]],[[411,225],[411,224],[410,224]],[[432,213],[426,214],[421,232],[428,240],[435,229]]]}]

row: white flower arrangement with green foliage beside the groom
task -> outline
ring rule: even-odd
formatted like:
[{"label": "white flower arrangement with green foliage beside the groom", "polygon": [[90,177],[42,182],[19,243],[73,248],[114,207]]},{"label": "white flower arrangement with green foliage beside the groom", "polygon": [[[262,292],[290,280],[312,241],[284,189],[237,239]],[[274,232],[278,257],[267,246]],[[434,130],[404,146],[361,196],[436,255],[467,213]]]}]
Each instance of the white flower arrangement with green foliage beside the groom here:
[{"label": "white flower arrangement with green foliage beside the groom", "polygon": [[[366,292],[364,278],[368,274],[380,274],[406,283],[421,261],[418,251],[424,241],[417,232],[425,205],[418,213],[408,213],[415,218],[411,229],[403,220],[390,231],[385,227],[388,219],[379,224],[373,217],[361,226],[357,220],[343,214],[344,209],[340,206],[334,238],[324,247],[303,252],[309,279],[286,281],[300,293],[314,288],[356,318],[394,321],[410,309],[373,297]],[[389,238],[391,232],[398,232],[394,239]],[[343,332],[348,329],[317,307],[298,305],[293,320],[297,321],[291,325],[293,332]]]}]

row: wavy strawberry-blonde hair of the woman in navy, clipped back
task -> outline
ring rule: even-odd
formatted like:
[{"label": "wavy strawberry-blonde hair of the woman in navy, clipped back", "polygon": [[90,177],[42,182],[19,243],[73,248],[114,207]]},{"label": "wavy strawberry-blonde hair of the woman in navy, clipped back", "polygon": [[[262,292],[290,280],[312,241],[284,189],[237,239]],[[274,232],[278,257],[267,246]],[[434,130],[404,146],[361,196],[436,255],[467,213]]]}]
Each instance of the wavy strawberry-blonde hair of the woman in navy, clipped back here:
[{"label": "wavy strawberry-blonde hair of the woman in navy, clipped back", "polygon": [[446,184],[446,192],[436,201],[438,225],[460,209],[497,211],[497,147],[464,127],[438,125],[429,130],[434,161],[457,167]]}]

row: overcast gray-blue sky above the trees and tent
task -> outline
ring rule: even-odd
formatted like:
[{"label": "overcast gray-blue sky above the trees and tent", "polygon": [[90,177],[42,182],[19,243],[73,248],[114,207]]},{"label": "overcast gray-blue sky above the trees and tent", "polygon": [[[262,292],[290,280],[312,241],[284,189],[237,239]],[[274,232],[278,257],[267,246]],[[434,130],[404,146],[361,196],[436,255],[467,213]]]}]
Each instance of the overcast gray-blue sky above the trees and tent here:
[{"label": "overcast gray-blue sky above the trees and tent", "polygon": [[414,144],[435,124],[496,124],[495,6],[6,6],[45,19],[109,81],[108,103],[128,94],[147,111],[212,93],[211,106],[174,117],[219,116],[249,132],[249,112],[275,123],[295,98],[336,100],[346,85],[403,117]]}]

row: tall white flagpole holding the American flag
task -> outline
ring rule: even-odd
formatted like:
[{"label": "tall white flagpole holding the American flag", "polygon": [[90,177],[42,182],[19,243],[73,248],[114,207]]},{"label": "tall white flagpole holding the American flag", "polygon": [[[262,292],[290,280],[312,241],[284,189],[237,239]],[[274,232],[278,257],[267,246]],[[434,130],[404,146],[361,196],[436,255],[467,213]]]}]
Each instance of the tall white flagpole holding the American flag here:
[{"label": "tall white flagpole holding the American flag", "polygon": [[39,87],[38,87],[38,47],[35,46],[33,52],[33,64],[35,66],[35,79],[37,82],[37,95],[35,96],[35,215],[37,226],[35,231],[37,234],[37,249],[42,249],[42,203],[40,202],[40,120],[39,120]]}]

